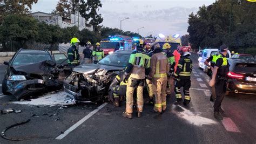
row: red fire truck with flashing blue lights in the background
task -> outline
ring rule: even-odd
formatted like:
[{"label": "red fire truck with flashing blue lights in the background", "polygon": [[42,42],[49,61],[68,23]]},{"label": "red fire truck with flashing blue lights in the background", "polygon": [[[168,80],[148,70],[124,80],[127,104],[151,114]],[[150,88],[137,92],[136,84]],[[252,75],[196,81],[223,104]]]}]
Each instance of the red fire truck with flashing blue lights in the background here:
[{"label": "red fire truck with flashing blue lights in the background", "polygon": [[100,41],[105,55],[118,50],[132,50],[132,44],[133,39],[131,37],[122,35],[110,36]]}]

